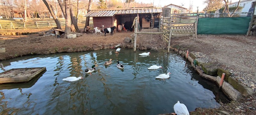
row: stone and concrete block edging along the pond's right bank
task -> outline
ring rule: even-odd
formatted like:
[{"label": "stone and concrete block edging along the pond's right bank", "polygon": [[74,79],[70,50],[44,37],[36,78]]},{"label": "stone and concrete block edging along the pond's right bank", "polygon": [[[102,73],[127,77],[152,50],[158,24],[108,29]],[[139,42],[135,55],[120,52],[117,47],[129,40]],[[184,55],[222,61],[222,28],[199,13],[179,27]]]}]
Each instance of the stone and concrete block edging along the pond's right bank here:
[{"label": "stone and concrete block edging along the pond's right bank", "polygon": [[[244,84],[240,83],[236,79],[232,78],[230,75],[231,73],[228,72],[228,70],[223,70],[219,66],[207,66],[204,67],[204,65],[214,65],[211,62],[204,62],[199,61],[200,58],[196,57],[193,52],[190,52],[187,57],[187,51],[181,51],[176,48],[170,48],[170,50],[173,50],[177,52],[181,57],[184,57],[189,62],[191,62],[192,67],[196,70],[196,72],[203,78],[208,79],[210,81],[214,81],[218,86],[220,86],[220,80],[221,75],[220,73],[226,73],[224,76],[224,81],[221,87],[221,90],[225,93],[226,96],[229,97],[229,99],[233,101],[238,101],[243,98],[243,96],[251,96],[253,95],[253,91],[251,88],[245,86]],[[194,65],[194,61],[196,60],[196,66]],[[204,69],[203,69],[204,68]],[[217,69],[217,71],[216,71]],[[209,72],[208,72],[209,71]],[[208,72],[205,74],[205,72]],[[214,77],[212,75],[217,75],[217,77]]]}]

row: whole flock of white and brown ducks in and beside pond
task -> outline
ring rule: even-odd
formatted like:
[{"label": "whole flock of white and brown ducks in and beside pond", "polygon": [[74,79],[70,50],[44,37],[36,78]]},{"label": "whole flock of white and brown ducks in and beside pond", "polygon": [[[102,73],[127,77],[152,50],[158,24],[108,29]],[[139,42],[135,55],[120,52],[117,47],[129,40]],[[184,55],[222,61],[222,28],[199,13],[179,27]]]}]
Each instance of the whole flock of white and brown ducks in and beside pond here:
[{"label": "whole flock of white and brown ducks in and beside pond", "polygon": [[[121,48],[117,48],[116,51],[120,51]],[[141,53],[139,54],[140,56],[148,56],[150,55],[150,52],[148,53]],[[110,65],[112,64],[112,59],[109,59],[109,61],[106,61],[104,63],[104,65]],[[116,67],[120,68],[120,69],[123,69],[124,68],[124,65],[120,64],[119,61],[117,60],[117,65]],[[152,65],[150,66],[148,69],[159,69],[159,68],[163,68],[162,66],[157,66],[157,65]],[[92,73],[93,71],[95,71],[95,65],[92,65],[92,68],[87,68],[84,70],[85,73]],[[168,72],[167,74],[160,74],[158,76],[156,76],[156,78],[159,78],[159,79],[167,79],[169,78],[171,73]],[[62,79],[63,81],[77,81],[77,80],[80,80],[80,79],[83,79],[83,77],[68,77],[68,78],[64,78]],[[189,112],[188,112],[188,109],[186,107],[185,104],[180,104],[180,101],[178,101],[176,104],[174,104],[173,106],[173,109],[175,111],[175,113],[172,113],[173,115],[189,115]]]}]

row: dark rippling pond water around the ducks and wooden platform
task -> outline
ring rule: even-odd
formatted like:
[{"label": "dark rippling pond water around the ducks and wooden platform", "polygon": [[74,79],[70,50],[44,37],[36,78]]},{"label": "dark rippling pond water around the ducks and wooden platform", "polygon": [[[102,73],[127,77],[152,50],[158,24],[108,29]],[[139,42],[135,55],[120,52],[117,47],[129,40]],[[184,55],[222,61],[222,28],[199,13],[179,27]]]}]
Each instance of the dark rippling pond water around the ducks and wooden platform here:
[{"label": "dark rippling pond water around the ducks and wooden platform", "polygon": [[[149,51],[149,50],[148,50]],[[27,83],[0,84],[0,112],[7,114],[161,114],[174,112],[180,101],[188,111],[218,107],[227,97],[210,81],[202,79],[183,57],[167,50],[95,50],[17,57],[0,62],[4,72],[12,68],[46,67],[46,72]],[[113,63],[105,66],[110,58]],[[124,69],[116,67],[117,61]],[[96,71],[86,74],[92,65]],[[151,65],[162,69],[148,70]],[[156,79],[168,73],[171,78]],[[63,78],[83,76],[68,82]],[[1,114],[0,113],[0,114]]]}]

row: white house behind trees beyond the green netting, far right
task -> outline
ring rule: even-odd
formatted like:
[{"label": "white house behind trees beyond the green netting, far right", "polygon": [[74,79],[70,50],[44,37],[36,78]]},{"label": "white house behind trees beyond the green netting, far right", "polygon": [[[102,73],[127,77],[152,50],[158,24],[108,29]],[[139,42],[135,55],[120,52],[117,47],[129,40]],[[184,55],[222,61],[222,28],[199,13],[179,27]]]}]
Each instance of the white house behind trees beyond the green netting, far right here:
[{"label": "white house behind trees beyond the green netting, far right", "polygon": [[[239,12],[248,12],[250,8],[255,7],[256,0],[241,0],[239,6],[243,7],[243,9]],[[236,7],[238,2],[228,4],[228,7]]]}]

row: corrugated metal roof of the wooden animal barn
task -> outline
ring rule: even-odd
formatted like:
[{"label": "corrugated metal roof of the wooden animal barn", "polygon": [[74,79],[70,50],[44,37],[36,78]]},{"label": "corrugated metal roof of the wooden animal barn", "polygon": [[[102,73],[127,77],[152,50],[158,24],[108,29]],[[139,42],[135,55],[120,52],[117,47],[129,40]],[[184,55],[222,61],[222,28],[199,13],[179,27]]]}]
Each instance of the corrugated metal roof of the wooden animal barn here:
[{"label": "corrugated metal roof of the wooden animal barn", "polygon": [[[117,9],[117,8],[116,8]],[[137,14],[137,13],[162,13],[162,8],[129,8],[129,9],[118,9],[118,10],[107,10],[107,9],[95,9],[88,12],[85,17],[104,17],[114,16],[120,14]]]}]

